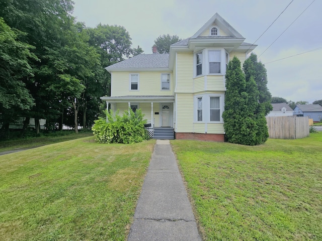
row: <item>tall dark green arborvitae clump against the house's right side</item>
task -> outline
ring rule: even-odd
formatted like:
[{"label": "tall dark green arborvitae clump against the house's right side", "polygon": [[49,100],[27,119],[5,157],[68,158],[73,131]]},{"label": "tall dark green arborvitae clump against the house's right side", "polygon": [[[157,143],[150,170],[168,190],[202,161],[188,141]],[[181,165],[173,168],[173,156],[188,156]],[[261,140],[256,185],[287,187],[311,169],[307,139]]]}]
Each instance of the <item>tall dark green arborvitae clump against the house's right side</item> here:
[{"label": "tall dark green arborvitae clump against the house's right side", "polygon": [[246,64],[249,67],[247,75],[241,70],[237,57],[228,64],[222,117],[228,142],[253,146],[266,142],[268,138],[266,105],[259,102],[261,94],[255,81],[254,64]]}]

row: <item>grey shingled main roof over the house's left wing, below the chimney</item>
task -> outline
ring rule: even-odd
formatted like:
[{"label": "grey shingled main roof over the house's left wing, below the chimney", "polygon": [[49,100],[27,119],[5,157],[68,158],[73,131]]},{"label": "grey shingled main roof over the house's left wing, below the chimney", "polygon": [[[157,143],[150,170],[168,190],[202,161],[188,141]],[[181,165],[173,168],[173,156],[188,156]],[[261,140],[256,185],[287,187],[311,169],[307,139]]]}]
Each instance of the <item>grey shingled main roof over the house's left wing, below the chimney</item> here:
[{"label": "grey shingled main roof over the house's left wing, below the chimney", "polygon": [[139,54],[105,69],[160,69],[169,67],[169,54]]}]

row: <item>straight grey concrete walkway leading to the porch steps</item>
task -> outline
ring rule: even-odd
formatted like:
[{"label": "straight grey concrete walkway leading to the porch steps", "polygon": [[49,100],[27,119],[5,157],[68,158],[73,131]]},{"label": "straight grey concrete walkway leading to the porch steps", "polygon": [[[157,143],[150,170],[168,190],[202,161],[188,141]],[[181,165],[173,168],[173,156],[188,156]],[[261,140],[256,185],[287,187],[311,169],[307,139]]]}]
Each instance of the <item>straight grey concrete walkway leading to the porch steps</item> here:
[{"label": "straight grey concrete walkway leading to the porch steps", "polygon": [[128,241],[202,240],[169,140],[157,140]]}]

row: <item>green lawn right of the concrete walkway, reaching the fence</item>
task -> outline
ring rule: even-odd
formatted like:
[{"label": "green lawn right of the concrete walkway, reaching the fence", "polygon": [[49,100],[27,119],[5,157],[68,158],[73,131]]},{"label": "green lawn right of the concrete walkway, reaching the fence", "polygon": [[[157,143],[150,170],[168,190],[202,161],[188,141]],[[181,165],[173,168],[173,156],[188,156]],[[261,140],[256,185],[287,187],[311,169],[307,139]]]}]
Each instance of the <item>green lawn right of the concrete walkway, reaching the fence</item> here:
[{"label": "green lawn right of the concrete walkway, reaching the fence", "polygon": [[204,240],[322,240],[322,133],[171,144]]}]

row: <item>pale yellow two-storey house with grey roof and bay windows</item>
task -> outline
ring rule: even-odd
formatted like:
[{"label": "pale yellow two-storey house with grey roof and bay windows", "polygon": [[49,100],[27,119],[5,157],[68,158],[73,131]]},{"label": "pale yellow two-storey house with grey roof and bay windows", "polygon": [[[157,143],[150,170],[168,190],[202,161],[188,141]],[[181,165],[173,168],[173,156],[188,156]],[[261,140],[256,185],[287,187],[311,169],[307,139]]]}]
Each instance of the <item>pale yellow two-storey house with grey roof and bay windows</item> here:
[{"label": "pale yellow two-storey house with grey roof and bay windows", "polygon": [[106,67],[113,111],[141,108],[152,128],[168,128],[176,139],[224,141],[222,112],[226,68],[241,64],[257,45],[215,14],[191,38],[171,45],[169,54],[140,54]]}]

